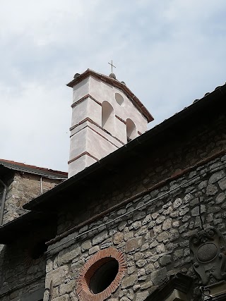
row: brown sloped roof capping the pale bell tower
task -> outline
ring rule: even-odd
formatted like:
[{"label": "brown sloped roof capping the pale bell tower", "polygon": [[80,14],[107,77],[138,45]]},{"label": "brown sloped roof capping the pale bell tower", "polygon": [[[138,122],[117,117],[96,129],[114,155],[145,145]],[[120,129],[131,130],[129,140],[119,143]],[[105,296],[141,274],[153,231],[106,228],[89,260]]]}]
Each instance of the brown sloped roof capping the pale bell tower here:
[{"label": "brown sloped roof capping the pale bell tower", "polygon": [[102,82],[107,82],[107,84],[110,84],[110,85],[112,85],[114,87],[119,88],[121,91],[124,92],[124,94],[126,94],[126,96],[131,100],[131,102],[136,106],[136,108],[139,111],[141,111],[141,113],[143,114],[143,116],[145,116],[145,118],[147,118],[148,122],[154,120],[154,118],[150,114],[150,112],[145,108],[145,106],[136,97],[136,95],[134,95],[133,92],[131,92],[131,90],[129,90],[129,88],[126,87],[126,85],[124,84],[124,82],[119,82],[119,80],[114,79],[112,77],[109,77],[107,75],[103,75],[103,74],[97,73],[97,72],[95,72],[93,70],[87,69],[81,75],[78,75],[78,73],[76,73],[76,77],[73,80],[71,80],[71,82],[69,82],[67,84],[67,86],[68,87],[73,87],[74,85],[77,85],[78,82],[81,82],[85,78],[88,78],[88,76],[93,76],[94,78],[98,78],[99,80],[102,80]]}]

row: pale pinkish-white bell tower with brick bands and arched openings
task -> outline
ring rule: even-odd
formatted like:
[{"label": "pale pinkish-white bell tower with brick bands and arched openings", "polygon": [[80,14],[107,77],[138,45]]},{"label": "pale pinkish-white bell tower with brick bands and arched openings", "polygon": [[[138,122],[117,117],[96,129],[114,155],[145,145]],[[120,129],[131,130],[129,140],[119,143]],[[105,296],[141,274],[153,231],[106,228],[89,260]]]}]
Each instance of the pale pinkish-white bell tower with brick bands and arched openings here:
[{"label": "pale pinkish-white bell tower with brick bands and arched openings", "polygon": [[114,74],[86,70],[73,88],[69,178],[147,130],[147,109]]}]

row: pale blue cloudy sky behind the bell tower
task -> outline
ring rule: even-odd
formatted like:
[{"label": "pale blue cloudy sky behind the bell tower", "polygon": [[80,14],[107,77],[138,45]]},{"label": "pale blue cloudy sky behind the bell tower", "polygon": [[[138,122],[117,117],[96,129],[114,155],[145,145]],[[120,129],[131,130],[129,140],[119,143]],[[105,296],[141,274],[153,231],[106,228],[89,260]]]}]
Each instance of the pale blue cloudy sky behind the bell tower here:
[{"label": "pale blue cloudy sky behind the bell tower", "polygon": [[66,83],[111,60],[148,129],[224,85],[225,16],[225,0],[1,0],[0,158],[67,171]]}]

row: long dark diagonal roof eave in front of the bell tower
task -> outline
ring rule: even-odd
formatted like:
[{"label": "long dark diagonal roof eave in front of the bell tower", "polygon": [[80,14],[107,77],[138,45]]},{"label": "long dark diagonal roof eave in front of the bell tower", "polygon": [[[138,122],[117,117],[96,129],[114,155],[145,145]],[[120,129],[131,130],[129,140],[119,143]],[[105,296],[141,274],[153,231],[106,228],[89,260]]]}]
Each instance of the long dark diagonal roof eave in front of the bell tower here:
[{"label": "long dark diagonal roof eave in front of the bell tower", "polygon": [[53,204],[57,207],[64,199],[65,202],[70,202],[73,199],[75,202],[75,193],[79,189],[90,186],[90,183],[95,183],[101,177],[106,178],[109,173],[120,171],[121,166],[131,164],[131,160],[137,159],[137,156],[148,155],[152,149],[170,142],[171,135],[184,135],[184,129],[194,126],[196,123],[201,123],[202,118],[211,118],[215,114],[226,111],[226,85],[216,88],[210,94],[194,102],[179,113],[168,118],[167,120],[156,125],[148,132],[140,137],[132,140],[123,147],[112,152],[108,156],[100,159],[97,163],[85,168],[80,173],[69,178],[57,185],[52,190],[45,192],[43,195],[32,199],[28,204],[24,205],[25,209],[36,211],[52,211]]}]

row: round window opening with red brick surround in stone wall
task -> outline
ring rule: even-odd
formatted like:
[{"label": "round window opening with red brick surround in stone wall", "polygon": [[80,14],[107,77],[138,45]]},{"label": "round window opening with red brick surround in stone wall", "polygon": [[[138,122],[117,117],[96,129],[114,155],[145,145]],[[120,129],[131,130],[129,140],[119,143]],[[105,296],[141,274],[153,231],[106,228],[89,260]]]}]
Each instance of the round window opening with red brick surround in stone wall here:
[{"label": "round window opening with red brick surround in stone wall", "polygon": [[119,287],[126,271],[124,254],[114,247],[97,252],[81,269],[76,293],[80,301],[103,301]]}]

